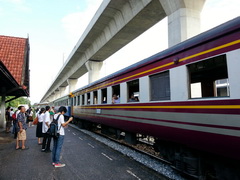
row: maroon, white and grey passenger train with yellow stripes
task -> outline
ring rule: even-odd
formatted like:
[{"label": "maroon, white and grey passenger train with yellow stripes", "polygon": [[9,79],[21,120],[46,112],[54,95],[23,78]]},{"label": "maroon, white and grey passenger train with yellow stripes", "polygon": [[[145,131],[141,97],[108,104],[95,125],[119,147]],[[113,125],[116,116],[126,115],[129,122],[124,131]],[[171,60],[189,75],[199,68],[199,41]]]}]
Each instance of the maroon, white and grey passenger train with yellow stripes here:
[{"label": "maroon, white and grey passenger train with yellow stripes", "polygon": [[81,126],[154,137],[161,155],[193,177],[240,179],[239,48],[237,17],[53,103]]}]

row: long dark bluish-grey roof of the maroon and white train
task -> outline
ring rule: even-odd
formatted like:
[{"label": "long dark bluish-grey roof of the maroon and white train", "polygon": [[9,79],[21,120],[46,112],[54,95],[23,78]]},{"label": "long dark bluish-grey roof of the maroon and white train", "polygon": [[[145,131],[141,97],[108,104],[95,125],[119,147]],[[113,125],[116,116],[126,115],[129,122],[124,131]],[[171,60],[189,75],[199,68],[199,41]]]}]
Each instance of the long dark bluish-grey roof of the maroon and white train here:
[{"label": "long dark bluish-grey roof of the maroon and white train", "polygon": [[83,90],[83,89],[86,89],[88,87],[91,87],[93,85],[97,85],[103,81],[107,81],[107,80],[110,80],[112,78],[115,78],[119,75],[123,75],[125,73],[128,73],[129,71],[132,71],[134,69],[137,69],[137,68],[140,68],[142,66],[146,66],[147,64],[151,64],[159,59],[163,59],[163,58],[167,58],[169,56],[172,56],[174,54],[177,54],[177,53],[180,53],[182,51],[186,51],[190,48],[193,48],[195,46],[198,46],[200,44],[203,44],[203,43],[206,43],[208,41],[211,41],[211,40],[214,40],[214,39],[217,39],[218,37],[220,36],[223,36],[224,34],[228,34],[230,32],[233,32],[233,31],[237,31],[240,29],[240,16],[226,22],[226,23],[223,23],[215,28],[212,28],[208,31],[205,31],[197,36],[194,36],[186,41],[183,41],[173,47],[170,47],[166,50],[163,50],[153,56],[150,56],[146,59],[143,59],[133,65],[130,65],[126,68],[123,68],[115,73],[112,73],[108,76],[105,76],[97,81],[94,81],[86,86],[83,86],[75,91],[73,91],[73,93],[75,92],[78,92],[80,90]]}]

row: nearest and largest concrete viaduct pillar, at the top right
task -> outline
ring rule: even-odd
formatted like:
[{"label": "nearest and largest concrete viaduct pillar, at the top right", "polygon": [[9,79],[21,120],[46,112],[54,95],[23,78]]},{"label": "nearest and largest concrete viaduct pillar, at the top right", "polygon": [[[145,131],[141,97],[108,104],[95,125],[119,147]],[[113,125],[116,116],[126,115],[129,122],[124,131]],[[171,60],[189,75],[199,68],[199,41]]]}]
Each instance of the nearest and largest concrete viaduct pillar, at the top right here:
[{"label": "nearest and largest concrete viaduct pillar, at the top right", "polygon": [[168,16],[168,46],[200,33],[200,13],[205,0],[159,0]]}]

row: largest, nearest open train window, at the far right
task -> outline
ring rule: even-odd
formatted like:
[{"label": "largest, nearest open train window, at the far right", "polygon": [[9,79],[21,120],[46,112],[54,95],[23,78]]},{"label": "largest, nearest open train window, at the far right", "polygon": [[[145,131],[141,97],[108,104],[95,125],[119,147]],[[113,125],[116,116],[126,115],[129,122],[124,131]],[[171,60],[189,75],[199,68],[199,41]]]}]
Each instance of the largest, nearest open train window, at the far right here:
[{"label": "largest, nearest open train window, at the far right", "polygon": [[190,98],[230,96],[226,55],[190,64],[188,71]]}]

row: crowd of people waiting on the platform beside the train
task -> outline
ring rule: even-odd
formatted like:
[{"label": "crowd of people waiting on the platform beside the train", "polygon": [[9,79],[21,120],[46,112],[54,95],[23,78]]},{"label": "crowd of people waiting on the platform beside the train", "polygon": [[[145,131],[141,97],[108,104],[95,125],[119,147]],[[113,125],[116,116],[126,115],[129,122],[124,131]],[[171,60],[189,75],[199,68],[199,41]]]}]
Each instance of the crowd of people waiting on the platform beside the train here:
[{"label": "crowd of people waiting on the platform beside the train", "polygon": [[[45,108],[36,109],[35,114],[37,119],[33,118],[33,109],[30,107],[28,110],[24,106],[19,106],[14,112],[11,107],[6,109],[6,133],[10,133],[12,127],[12,133],[16,139],[16,150],[27,150],[27,128],[34,126],[33,121],[37,122],[36,137],[38,145],[41,145],[41,151],[50,153],[52,152],[52,165],[54,167],[64,167],[65,164],[60,162],[60,154],[62,145],[64,142],[64,128],[73,120],[70,117],[68,121],[64,121],[64,114],[67,112],[67,108],[61,106],[58,112],[55,113],[54,108],[46,106]],[[58,136],[52,137],[49,133],[50,125],[52,122],[57,123]],[[53,148],[51,150],[51,141],[53,139]]]}]

